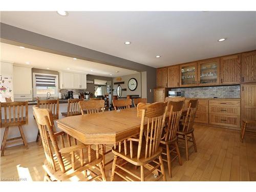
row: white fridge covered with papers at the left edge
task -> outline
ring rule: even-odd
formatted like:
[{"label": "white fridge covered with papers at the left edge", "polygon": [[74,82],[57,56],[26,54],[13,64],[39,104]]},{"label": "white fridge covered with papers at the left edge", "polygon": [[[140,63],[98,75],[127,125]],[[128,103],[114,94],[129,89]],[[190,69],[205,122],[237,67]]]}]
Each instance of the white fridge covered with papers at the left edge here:
[{"label": "white fridge covered with papers at the left edge", "polygon": [[6,97],[11,97],[13,100],[12,77],[0,75],[0,102],[6,102]]}]

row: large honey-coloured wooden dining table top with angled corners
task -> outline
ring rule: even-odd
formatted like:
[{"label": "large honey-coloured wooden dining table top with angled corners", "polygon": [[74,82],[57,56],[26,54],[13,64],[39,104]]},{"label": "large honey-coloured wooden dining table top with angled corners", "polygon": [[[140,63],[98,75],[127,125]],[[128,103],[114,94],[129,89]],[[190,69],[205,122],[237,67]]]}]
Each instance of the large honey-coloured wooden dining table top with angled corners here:
[{"label": "large honey-coloured wooden dining table top with angled corners", "polygon": [[[183,109],[182,114],[185,115],[186,112],[187,109]],[[137,117],[137,108],[70,116],[57,120],[59,129],[84,144],[118,143],[139,134],[140,123],[141,117]]]}]

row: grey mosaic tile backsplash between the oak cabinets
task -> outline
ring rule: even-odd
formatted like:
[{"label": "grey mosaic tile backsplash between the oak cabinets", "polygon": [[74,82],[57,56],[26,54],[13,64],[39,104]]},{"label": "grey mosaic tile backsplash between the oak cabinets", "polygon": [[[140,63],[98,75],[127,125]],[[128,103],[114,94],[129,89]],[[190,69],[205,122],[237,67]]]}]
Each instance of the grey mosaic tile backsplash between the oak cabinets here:
[{"label": "grey mosaic tile backsplash between the oak cabinets", "polygon": [[187,98],[240,98],[240,86],[214,86],[196,88],[174,88],[172,91],[184,91]]}]

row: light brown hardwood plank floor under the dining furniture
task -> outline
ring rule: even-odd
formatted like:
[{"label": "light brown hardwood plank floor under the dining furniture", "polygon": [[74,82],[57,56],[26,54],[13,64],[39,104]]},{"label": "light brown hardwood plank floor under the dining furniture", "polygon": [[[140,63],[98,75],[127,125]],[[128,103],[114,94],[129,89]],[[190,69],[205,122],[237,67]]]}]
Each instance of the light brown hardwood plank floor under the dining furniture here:
[{"label": "light brown hardwood plank floor under the dining furniture", "polygon": [[[189,161],[185,160],[185,151],[180,148],[183,165],[178,161],[172,164],[173,177],[167,181],[256,181],[256,136],[246,132],[244,142],[240,142],[240,132],[206,125],[195,125],[195,138],[198,152],[190,148]],[[0,158],[1,180],[11,178],[26,178],[27,180],[42,181],[44,171],[42,164],[45,160],[42,146],[36,142],[24,146],[7,148],[5,156]],[[106,157],[106,161],[112,158]],[[126,167],[135,169],[133,165]],[[165,173],[167,164],[164,164]],[[105,167],[107,180],[111,164]],[[151,179],[151,178],[149,178]],[[152,176],[152,179],[154,177]],[[115,176],[115,181],[121,180]]]}]

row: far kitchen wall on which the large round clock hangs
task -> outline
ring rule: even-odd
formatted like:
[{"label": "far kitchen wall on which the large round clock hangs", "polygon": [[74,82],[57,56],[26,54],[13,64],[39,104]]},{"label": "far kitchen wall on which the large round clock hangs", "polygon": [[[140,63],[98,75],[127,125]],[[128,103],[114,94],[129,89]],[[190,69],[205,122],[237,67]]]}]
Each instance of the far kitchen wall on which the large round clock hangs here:
[{"label": "far kitchen wall on which the large round clock hangs", "polygon": [[[121,80],[117,80],[116,77],[113,78],[113,89],[116,90],[118,84],[114,84],[115,82],[120,82],[120,81],[124,81],[124,84],[120,84],[122,89],[126,89],[126,91],[122,91],[122,95],[121,97],[126,97],[127,95],[139,95],[141,97],[141,73],[135,73],[132,75],[125,75],[125,76],[121,76]],[[128,88],[128,81],[131,78],[135,78],[138,82],[138,86],[136,88],[135,91],[131,91]],[[117,95],[116,91],[113,92],[113,95]]]}]

